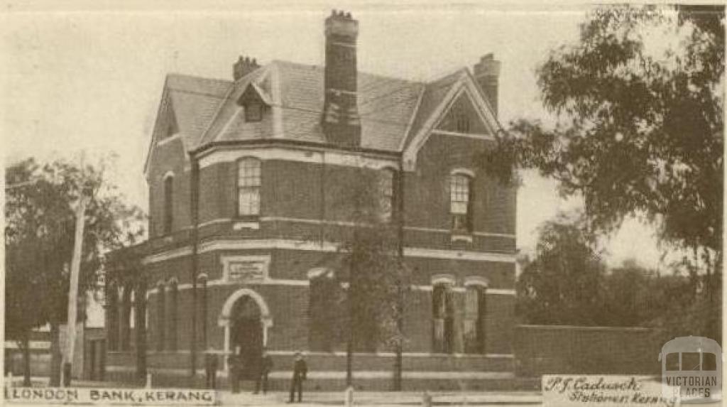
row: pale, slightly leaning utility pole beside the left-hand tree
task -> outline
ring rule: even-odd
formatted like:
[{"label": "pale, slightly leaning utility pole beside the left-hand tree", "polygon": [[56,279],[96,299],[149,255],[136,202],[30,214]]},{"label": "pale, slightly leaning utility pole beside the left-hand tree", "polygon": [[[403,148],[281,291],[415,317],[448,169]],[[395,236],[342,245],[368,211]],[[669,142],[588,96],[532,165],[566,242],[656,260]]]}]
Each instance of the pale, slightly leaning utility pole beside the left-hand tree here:
[{"label": "pale, slightly leaning utility pole beside the left-hand tree", "polygon": [[76,344],[76,315],[79,302],[79,274],[81,273],[81,253],[84,243],[84,225],[86,216],[87,196],[83,188],[76,206],[76,235],[73,238],[73,258],[71,259],[71,286],[68,291],[68,334],[65,343],[65,362],[63,363],[63,385],[71,386],[71,368],[73,366],[73,347]]}]

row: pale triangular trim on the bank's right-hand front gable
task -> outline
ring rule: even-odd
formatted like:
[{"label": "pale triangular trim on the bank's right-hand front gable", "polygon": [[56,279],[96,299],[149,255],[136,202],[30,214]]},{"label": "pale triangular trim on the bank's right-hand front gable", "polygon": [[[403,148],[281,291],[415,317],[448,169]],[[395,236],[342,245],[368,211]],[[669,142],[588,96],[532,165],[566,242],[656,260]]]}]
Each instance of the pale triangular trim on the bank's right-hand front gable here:
[{"label": "pale triangular trim on the bank's right-hand front gable", "polygon": [[[477,112],[479,118],[483,124],[487,127],[491,134],[499,132],[502,128],[497,121],[497,117],[494,115],[494,111],[488,102],[483,98],[481,91],[478,88],[478,84],[475,82],[469,71],[464,69],[462,74],[457,78],[454,86],[449,89],[446,96],[443,97],[440,104],[434,110],[432,115],[427,118],[422,129],[419,130],[414,138],[409,143],[409,146],[403,150],[403,164],[405,171],[413,171],[417,166],[417,153],[419,149],[427,142],[431,134],[448,134],[461,137],[472,137],[480,140],[494,140],[494,137],[490,134],[465,134],[457,132],[445,132],[443,130],[435,129],[436,126],[441,122],[446,112],[451,109],[451,106],[461,97],[462,94],[466,94],[470,101],[473,103],[473,107]],[[417,106],[418,109],[418,106]],[[416,114],[416,110],[414,110]]]}]

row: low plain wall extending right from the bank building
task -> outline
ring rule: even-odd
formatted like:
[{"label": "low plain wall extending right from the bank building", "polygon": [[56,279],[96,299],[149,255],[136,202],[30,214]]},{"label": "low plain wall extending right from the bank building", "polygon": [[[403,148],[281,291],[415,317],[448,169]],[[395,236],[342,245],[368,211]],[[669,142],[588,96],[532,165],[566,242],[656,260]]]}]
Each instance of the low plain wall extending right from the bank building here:
[{"label": "low plain wall extending right from the bank building", "polygon": [[659,374],[662,344],[650,329],[521,325],[515,329],[516,373]]}]

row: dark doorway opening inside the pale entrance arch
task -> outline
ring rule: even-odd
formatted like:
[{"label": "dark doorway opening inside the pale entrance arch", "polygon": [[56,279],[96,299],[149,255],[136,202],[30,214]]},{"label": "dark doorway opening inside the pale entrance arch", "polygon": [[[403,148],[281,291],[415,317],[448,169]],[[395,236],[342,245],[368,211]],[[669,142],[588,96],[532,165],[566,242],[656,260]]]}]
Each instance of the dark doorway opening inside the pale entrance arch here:
[{"label": "dark doorway opening inside the pale entrance arch", "polygon": [[253,380],[262,356],[262,320],[260,307],[254,299],[238,299],[232,310],[230,346],[233,352],[240,347],[243,363],[242,379]]}]

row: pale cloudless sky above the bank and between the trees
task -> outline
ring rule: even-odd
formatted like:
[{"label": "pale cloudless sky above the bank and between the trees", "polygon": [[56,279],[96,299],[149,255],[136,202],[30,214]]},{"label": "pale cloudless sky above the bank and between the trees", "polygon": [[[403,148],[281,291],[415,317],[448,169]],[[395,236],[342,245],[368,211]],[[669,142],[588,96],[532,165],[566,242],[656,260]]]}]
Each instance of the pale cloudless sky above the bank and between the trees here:
[{"label": "pale cloudless sky above the bank and between the trees", "polygon": [[[222,1],[202,8],[185,1],[175,3],[176,9],[161,2],[156,9],[129,4],[112,12],[103,5],[48,11],[7,3],[0,14],[0,146],[7,162],[76,159],[81,150],[89,161],[113,154],[111,181],[143,209],[148,193],[142,168],[166,73],[230,79],[239,55],[262,64],[321,65],[324,19],[334,8],[345,9],[359,21],[359,70],[427,80],[471,68],[494,52],[502,62],[502,123],[520,117],[549,121],[535,70],[550,49],[577,41],[587,11],[576,5],[429,1],[278,1],[265,8]],[[555,182],[535,172],[525,172],[523,181],[517,236],[518,248],[528,253],[543,221],[582,202],[561,199]],[[606,249],[611,265],[635,258],[659,267],[653,231],[634,219],[608,239]]]}]

